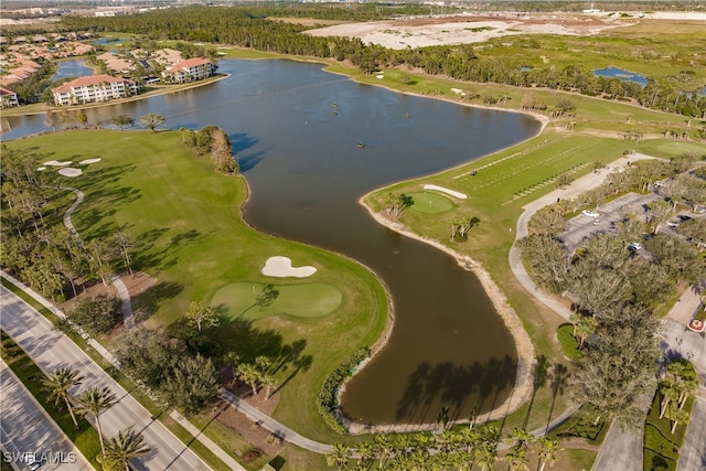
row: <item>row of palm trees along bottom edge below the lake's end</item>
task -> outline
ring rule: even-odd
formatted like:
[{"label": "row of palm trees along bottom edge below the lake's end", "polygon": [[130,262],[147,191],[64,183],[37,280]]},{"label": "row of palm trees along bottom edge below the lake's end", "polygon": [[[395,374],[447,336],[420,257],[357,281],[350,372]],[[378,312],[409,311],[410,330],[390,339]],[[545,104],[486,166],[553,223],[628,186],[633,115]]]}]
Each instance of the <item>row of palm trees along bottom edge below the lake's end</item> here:
[{"label": "row of palm trees along bottom edge below the lake's end", "polygon": [[[510,446],[502,458],[499,453],[501,441]],[[336,443],[327,456],[327,463],[339,470],[347,469],[355,459],[356,470],[371,469],[377,461],[377,469],[399,471],[430,468],[470,470],[475,465],[489,471],[502,459],[510,470],[522,470],[527,469],[534,454],[539,462],[539,471],[543,471],[546,464],[554,464],[560,451],[563,449],[556,439],[537,439],[523,428],[512,429],[503,437],[494,426],[478,429],[471,426],[439,433],[377,433],[354,448]]]}]

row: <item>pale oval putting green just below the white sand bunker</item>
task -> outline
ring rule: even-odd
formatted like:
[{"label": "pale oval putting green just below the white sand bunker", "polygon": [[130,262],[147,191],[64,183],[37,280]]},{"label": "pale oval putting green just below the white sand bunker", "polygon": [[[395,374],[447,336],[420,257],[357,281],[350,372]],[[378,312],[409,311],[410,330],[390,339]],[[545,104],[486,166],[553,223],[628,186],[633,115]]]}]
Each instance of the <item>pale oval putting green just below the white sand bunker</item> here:
[{"label": "pale oval putting green just below the white sand bunker", "polygon": [[271,303],[257,306],[266,285],[234,282],[221,288],[213,296],[211,306],[224,308],[228,317],[236,319],[260,319],[274,314],[299,318],[318,318],[332,312],[341,304],[341,291],[327,283],[275,285],[279,295]]}]

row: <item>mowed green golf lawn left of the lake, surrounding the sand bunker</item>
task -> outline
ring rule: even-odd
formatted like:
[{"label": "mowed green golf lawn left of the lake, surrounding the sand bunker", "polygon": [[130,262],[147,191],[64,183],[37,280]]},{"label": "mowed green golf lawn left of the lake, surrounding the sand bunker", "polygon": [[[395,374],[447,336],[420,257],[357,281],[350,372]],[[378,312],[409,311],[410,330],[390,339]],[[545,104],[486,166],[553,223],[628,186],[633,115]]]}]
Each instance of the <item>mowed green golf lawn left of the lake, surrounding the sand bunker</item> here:
[{"label": "mowed green golf lawn left of the lake, surrounding the sand bunker", "polygon": [[[321,384],[355,349],[372,345],[387,321],[384,288],[368,270],[250,228],[240,216],[247,197],[244,179],[215,173],[207,157],[195,158],[181,143],[179,131],[65,131],[8,146],[31,150],[38,163],[101,159],[83,167],[83,175],[65,179],[65,185],[86,196],[72,220],[85,240],[116,231],[133,240],[133,268],[157,278],[133,300],[133,307],[147,314],[146,325],[184,329],[191,301],[210,303],[233,283],[248,283],[250,290],[275,285],[281,300],[271,304],[269,315],[258,312],[256,319],[237,322],[237,312],[224,312],[221,327],[208,336],[221,353],[296,352],[292,361],[300,361],[298,366],[282,368],[278,376],[287,383],[275,417],[310,438],[334,440],[317,411]],[[261,275],[265,261],[275,255],[313,266],[317,272],[306,280]],[[317,288],[307,291],[302,285]],[[281,310],[275,308],[285,301],[292,314],[300,309],[298,315],[279,315]],[[322,304],[307,311],[302,304],[309,301]],[[233,302],[237,309],[238,302],[252,303],[253,298]]]}]

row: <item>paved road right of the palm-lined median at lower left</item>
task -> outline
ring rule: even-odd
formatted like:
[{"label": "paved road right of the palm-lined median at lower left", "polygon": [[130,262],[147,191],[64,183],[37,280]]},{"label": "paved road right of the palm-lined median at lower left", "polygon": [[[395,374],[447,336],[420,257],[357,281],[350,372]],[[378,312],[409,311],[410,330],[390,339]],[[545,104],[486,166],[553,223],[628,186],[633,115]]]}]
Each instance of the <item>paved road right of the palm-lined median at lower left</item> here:
[{"label": "paved road right of the palm-lined median at lower left", "polygon": [[208,470],[210,468],[174,437],[162,424],[135,400],[120,385],[78,349],[68,338],[55,331],[39,312],[4,287],[0,287],[2,315],[0,325],[22,346],[44,372],[72,366],[85,376],[81,389],[89,386],[108,387],[118,403],[101,415],[104,433],[133,428],[143,433],[152,451],[139,461],[138,470]]}]

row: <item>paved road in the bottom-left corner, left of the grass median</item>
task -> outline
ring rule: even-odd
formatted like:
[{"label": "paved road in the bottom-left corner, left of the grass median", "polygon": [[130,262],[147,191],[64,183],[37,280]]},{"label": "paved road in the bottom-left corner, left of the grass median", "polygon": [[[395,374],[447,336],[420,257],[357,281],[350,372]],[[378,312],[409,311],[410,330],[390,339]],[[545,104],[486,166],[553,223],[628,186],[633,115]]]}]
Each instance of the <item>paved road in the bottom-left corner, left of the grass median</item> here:
[{"label": "paved road in the bottom-left corner, left of the grass median", "polygon": [[[22,462],[25,453],[46,453],[42,470],[79,471],[92,470],[86,458],[74,447],[58,426],[46,414],[34,396],[24,387],[12,370],[0,360],[0,442],[2,459],[11,461],[17,469],[29,470]],[[51,454],[50,454],[51,453]]]}]

